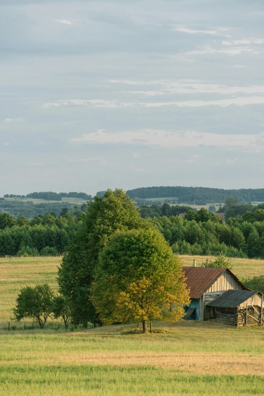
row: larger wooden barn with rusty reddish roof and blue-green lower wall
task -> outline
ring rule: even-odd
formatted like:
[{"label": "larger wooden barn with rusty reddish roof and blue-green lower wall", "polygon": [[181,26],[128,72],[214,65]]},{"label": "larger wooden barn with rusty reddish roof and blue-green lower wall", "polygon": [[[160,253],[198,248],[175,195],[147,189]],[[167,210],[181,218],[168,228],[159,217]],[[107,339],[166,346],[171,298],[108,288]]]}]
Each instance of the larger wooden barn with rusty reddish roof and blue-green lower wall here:
[{"label": "larger wooden barn with rusty reddish roof and blue-green lower wall", "polygon": [[210,302],[228,290],[249,290],[227,268],[183,267],[183,272],[191,298],[184,319],[209,319],[211,310],[206,306]]}]

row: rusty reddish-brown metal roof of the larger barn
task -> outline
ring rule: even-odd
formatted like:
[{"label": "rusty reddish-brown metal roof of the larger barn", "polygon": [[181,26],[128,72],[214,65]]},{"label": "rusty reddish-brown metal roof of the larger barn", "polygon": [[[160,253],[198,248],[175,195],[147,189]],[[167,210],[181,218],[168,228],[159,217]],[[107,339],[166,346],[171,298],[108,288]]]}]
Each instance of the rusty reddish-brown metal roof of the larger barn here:
[{"label": "rusty reddish-brown metal roof of the larger barn", "polygon": [[242,289],[250,290],[228,268],[183,267],[183,272],[185,272],[187,278],[185,283],[187,288],[190,288],[190,298],[200,298],[226,271],[238,282]]}]

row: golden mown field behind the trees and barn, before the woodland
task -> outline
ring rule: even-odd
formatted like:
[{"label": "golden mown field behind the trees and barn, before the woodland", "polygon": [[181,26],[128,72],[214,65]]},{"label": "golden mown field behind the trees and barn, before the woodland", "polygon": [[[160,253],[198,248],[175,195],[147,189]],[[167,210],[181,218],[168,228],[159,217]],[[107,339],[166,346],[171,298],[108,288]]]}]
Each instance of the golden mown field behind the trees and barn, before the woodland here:
[{"label": "golden mown field behind the trees and barn, before the woodland", "polygon": [[[181,256],[185,266],[191,266],[193,259],[200,266],[208,256]],[[12,307],[21,287],[36,283],[49,283],[56,291],[56,276],[61,257],[11,257],[0,258],[0,327],[12,318]],[[264,260],[232,258],[235,275],[253,277],[264,274]]]}]

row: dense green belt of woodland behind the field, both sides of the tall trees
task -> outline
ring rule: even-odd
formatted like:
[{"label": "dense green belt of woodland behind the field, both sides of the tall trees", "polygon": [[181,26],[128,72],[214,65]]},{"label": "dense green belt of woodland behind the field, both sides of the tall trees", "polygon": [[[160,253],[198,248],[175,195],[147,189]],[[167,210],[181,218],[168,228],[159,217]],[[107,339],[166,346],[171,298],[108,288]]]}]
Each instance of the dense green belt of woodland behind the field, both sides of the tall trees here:
[{"label": "dense green belt of woodland behind the field, both sides of the tall trees", "polygon": [[[264,258],[264,209],[262,204],[251,206],[250,211],[229,217],[226,223],[204,208],[197,211],[188,206],[164,203],[161,207],[152,205],[137,209],[135,206],[135,210],[162,233],[174,253],[218,255],[223,252],[229,257]],[[229,198],[224,208],[227,213],[234,210],[234,199]],[[0,255],[65,252],[75,233],[83,230],[86,211],[87,205],[64,207],[59,217],[51,212],[31,221],[24,216],[15,219],[8,213],[0,213]],[[179,217],[179,213],[186,213],[185,218]]]}]

